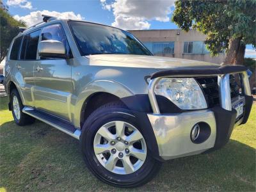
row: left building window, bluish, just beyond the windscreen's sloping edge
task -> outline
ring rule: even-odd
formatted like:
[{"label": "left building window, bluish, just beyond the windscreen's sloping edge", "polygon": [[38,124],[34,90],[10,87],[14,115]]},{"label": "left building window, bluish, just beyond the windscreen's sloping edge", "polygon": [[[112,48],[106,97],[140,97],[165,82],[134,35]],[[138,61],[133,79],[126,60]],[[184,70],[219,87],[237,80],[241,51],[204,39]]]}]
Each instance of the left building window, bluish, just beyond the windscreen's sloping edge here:
[{"label": "left building window, bluish, just beyond the windscreen's sloping edge", "polygon": [[143,42],[153,54],[173,54],[174,42]]}]

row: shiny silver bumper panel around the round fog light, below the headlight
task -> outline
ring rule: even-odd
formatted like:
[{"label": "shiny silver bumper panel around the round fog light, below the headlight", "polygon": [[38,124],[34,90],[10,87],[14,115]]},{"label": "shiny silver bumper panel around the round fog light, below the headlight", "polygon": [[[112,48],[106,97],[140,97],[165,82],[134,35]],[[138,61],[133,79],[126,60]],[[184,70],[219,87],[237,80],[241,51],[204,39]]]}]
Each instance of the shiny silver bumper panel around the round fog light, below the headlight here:
[{"label": "shiny silver bumper panel around the round fog light, below the headlight", "polygon": [[[180,114],[148,114],[159,150],[164,160],[200,154],[214,147],[216,140],[216,120],[211,110],[191,111]],[[198,122],[205,122],[211,127],[211,134],[203,143],[193,143],[191,129]]]}]

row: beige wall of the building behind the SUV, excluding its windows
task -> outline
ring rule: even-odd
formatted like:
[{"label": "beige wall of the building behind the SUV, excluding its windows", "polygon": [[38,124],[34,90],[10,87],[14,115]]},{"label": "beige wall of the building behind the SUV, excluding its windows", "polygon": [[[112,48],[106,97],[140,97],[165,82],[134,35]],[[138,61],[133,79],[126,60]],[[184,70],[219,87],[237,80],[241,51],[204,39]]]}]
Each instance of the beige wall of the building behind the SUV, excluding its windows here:
[{"label": "beige wall of the building behind the SUV, excluding its windows", "polygon": [[179,29],[159,29],[159,30],[131,30],[141,42],[174,42],[174,52],[172,54],[155,54],[157,56],[168,56],[175,58],[184,58],[188,60],[207,61],[211,63],[222,63],[225,57],[223,52],[218,56],[212,57],[209,52],[185,53],[184,42],[204,42],[206,36],[196,30],[190,30],[188,33]]}]

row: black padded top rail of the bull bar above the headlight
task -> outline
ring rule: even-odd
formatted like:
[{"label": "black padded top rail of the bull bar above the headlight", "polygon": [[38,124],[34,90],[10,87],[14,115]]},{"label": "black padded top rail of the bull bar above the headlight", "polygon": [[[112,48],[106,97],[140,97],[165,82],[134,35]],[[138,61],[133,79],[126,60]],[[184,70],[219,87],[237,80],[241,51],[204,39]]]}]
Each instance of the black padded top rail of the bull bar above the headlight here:
[{"label": "black padded top rail of the bull bar above the headlight", "polygon": [[163,76],[212,76],[221,74],[231,74],[246,71],[247,68],[243,65],[223,65],[219,68],[186,68],[186,69],[171,69],[171,70],[161,70],[152,74],[150,79],[155,79],[157,77]]}]

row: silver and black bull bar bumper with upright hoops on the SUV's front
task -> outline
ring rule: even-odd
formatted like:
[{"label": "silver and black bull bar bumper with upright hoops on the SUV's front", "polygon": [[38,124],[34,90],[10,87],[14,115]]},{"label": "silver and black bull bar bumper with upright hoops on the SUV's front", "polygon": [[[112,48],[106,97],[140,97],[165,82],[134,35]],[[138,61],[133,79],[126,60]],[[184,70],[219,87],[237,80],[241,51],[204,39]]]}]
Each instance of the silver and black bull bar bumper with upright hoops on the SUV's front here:
[{"label": "silver and black bull bar bumper with upright hoops on the SUV's front", "polygon": [[[162,77],[205,76],[204,71],[200,71],[198,74],[182,71],[183,75],[178,74],[178,72],[170,75],[164,73],[162,77],[156,76],[156,78],[151,79],[148,84],[148,97],[153,113],[147,116],[156,136],[159,156],[162,159],[175,159],[221,148],[228,142],[234,127],[246,123],[252,108],[253,98],[246,72],[238,69],[232,71],[232,68],[228,67],[228,74],[223,74],[222,70],[215,74],[207,74],[207,76],[218,76],[220,106],[183,113],[161,114],[154,94],[154,87]],[[210,72],[215,72],[215,70],[210,70]],[[236,110],[232,109],[230,98],[229,74],[234,73],[239,73],[241,77],[243,96],[245,97],[244,114],[239,120],[236,120]],[[191,140],[191,130],[198,123],[205,124],[207,131],[204,132],[205,138],[202,142],[195,143]]]}]

